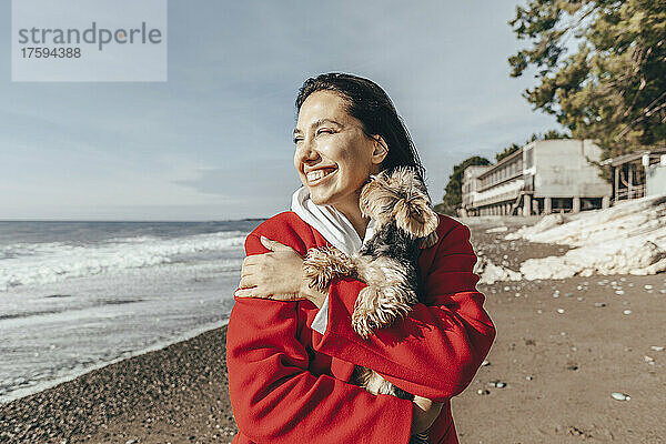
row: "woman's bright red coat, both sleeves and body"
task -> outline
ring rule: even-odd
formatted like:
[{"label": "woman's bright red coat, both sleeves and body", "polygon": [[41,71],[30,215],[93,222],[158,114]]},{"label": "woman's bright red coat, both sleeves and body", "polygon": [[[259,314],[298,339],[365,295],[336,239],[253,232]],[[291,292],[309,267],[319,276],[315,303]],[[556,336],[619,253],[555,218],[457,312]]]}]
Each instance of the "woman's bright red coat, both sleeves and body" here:
[{"label": "woman's bright red coat, both sleeves and body", "polygon": [[[457,443],[450,400],[472,381],[495,337],[472,272],[476,255],[470,230],[441,215],[440,241],[418,264],[427,303],[408,317],[361,339],[351,314],[364,283],[334,281],[321,335],[311,329],[319,309],[310,301],[236,297],[226,333],[229,393],[239,434],[249,443],[406,444],[412,402],[373,395],[350,384],[354,364],[379,372],[410,393],[443,402],[430,443]],[[295,213],[278,214],[245,240],[245,253],[268,250],[266,236],[305,255],[330,245]]]}]

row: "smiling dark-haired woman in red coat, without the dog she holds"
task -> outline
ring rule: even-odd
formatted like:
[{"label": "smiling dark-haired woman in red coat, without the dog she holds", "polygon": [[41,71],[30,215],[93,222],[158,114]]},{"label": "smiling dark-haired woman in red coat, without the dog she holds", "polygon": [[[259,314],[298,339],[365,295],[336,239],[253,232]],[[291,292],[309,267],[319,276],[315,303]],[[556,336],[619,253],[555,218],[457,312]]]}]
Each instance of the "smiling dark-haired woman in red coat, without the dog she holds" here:
[{"label": "smiling dark-haired woman in red coat, without the dog she holds", "polygon": [[[495,336],[472,269],[466,226],[440,216],[438,242],[418,258],[426,303],[362,339],[351,313],[365,283],[336,279],[326,292],[303,275],[309,249],[354,254],[373,233],[361,212],[372,174],[424,170],[386,93],[351,74],[305,81],[296,99],[294,167],[303,188],[292,211],[245,240],[248,258],[228,331],[229,384],[240,433],[234,443],[456,443],[450,400],[472,381]],[[372,394],[355,365],[380,373],[414,400]]]}]

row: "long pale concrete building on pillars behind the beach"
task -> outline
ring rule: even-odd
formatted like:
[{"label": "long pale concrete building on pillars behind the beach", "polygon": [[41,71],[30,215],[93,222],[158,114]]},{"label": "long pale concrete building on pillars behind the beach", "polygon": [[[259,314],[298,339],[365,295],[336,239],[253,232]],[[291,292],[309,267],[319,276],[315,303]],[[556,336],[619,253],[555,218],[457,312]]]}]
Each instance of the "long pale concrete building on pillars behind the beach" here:
[{"label": "long pale concrete building on pillars behind the beach", "polygon": [[592,163],[601,155],[592,140],[544,140],[484,170],[470,167],[463,174],[462,213],[529,215],[607,208],[613,186]]}]

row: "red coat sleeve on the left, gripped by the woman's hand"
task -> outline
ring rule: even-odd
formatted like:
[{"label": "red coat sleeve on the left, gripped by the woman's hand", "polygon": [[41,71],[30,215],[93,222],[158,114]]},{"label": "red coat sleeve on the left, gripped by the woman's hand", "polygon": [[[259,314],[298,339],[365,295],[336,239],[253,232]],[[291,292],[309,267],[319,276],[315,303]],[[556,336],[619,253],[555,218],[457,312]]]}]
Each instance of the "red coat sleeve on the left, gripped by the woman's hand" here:
[{"label": "red coat sleeve on the left, gripped by the woman's hand", "polygon": [[[303,250],[293,231],[262,230],[260,226],[246,239],[246,254],[266,252],[261,234]],[[407,443],[410,401],[375,396],[307,371],[307,351],[296,339],[297,304],[235,299],[226,334],[226,364],[240,432],[256,443]]]}]

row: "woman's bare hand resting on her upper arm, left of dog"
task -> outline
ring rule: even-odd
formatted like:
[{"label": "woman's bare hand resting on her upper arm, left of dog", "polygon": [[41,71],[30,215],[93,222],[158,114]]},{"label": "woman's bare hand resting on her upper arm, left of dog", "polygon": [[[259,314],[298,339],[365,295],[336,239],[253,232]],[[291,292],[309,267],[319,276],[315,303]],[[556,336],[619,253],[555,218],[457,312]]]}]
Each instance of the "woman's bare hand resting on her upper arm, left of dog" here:
[{"label": "woman's bare hand resting on her upper arm, left of dog", "polygon": [[312,301],[321,309],[326,294],[311,289],[303,278],[303,258],[291,246],[261,236],[269,253],[243,260],[241,283],[235,295],[274,301]]}]

